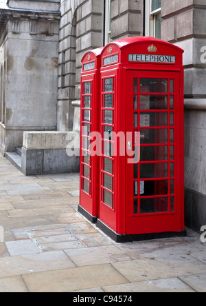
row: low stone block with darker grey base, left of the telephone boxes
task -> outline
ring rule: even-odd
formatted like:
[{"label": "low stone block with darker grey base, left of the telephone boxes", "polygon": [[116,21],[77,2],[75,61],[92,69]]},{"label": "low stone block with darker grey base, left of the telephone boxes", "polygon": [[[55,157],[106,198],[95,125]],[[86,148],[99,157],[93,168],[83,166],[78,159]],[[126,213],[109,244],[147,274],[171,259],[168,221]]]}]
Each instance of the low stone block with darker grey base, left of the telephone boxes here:
[{"label": "low stone block with darker grey base, left of the telephone boxes", "polygon": [[21,172],[25,175],[79,172],[79,139],[77,132],[24,132]]}]

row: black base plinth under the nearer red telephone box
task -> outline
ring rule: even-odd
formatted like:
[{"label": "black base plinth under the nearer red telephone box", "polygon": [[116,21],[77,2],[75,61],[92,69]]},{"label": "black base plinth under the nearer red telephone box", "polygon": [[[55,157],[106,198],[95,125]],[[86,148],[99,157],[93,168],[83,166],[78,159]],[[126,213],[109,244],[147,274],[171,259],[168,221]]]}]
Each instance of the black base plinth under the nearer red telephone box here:
[{"label": "black base plinth under the nearer red telephone box", "polygon": [[116,243],[128,243],[133,241],[146,241],[160,238],[172,238],[172,237],[185,237],[187,236],[187,232],[163,232],[163,233],[149,233],[149,234],[133,234],[133,235],[121,235],[117,234],[110,227],[104,224],[102,221],[98,219],[97,227],[102,230],[105,234],[107,234],[111,239],[113,239]]}]

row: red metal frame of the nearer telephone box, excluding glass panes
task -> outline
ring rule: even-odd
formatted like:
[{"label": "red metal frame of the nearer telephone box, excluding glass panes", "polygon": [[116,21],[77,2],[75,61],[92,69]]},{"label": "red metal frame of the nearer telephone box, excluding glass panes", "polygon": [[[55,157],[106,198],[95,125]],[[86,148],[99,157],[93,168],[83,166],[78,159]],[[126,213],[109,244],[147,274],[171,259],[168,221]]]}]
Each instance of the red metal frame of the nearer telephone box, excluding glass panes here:
[{"label": "red metal frame of the nearer telephone box, excluding glass panes", "polygon": [[[151,48],[152,45],[155,46],[156,50],[155,48]],[[146,59],[151,59],[151,57],[149,57],[151,54],[154,56],[159,55],[159,57],[165,54],[167,56],[175,57],[175,63],[134,63],[128,61],[129,54],[148,54]],[[110,93],[114,95],[114,114],[112,124],[114,132],[124,132],[125,135],[126,132],[133,132],[134,135],[135,130],[140,132],[141,138],[143,138],[145,137],[145,133],[150,131],[153,132],[156,139],[155,143],[145,145],[145,147],[150,147],[150,149],[155,147],[155,158],[153,161],[140,161],[138,163],[136,166],[138,169],[138,176],[137,179],[135,179],[135,182],[137,182],[138,185],[135,187],[134,165],[128,163],[129,156],[120,156],[120,154],[117,154],[117,156],[113,158],[114,166],[113,174],[111,174],[113,178],[112,205],[104,203],[104,198],[102,198],[102,190],[104,190],[104,181],[102,176],[104,173],[104,165],[102,163],[103,157],[100,161],[99,172],[102,175],[100,181],[99,221],[109,229],[113,230],[116,234],[133,235],[181,232],[184,230],[182,54],[183,50],[175,45],[149,37],[131,37],[129,39],[121,39],[109,43],[102,51],[102,68],[100,70],[101,110],[102,112],[104,110],[104,108],[102,108],[102,105],[104,106],[105,95],[103,85],[104,79],[113,78],[115,88],[114,91]],[[163,58],[161,57],[161,59]],[[158,92],[158,94],[155,92],[140,93],[138,87],[137,92],[134,93],[134,78],[137,78],[138,86],[140,79],[166,79],[168,81],[167,91]],[[170,79],[174,80],[173,93],[169,92]],[[135,120],[137,119],[138,124],[135,129],[133,120],[134,95],[136,95],[138,99],[138,109],[135,110],[135,114],[137,114]],[[166,96],[168,104],[160,110],[140,111],[140,96],[146,95],[158,95],[160,97],[162,96],[163,99],[166,99]],[[170,96],[174,97],[174,109],[171,110]],[[163,103],[163,100],[160,104],[161,103]],[[101,125],[104,126],[104,117],[102,112],[100,121]],[[141,117],[140,115],[146,116]],[[152,116],[154,117],[155,123],[153,123],[152,126],[143,125],[140,127],[140,122],[143,121],[143,119],[148,119],[149,116],[150,118],[152,118]],[[170,135],[172,135],[172,131],[174,133],[174,143],[170,143]],[[103,131],[101,130],[101,132]],[[103,137],[104,135],[102,133],[102,139],[104,139]],[[159,141],[157,141],[158,139]],[[165,143],[165,141],[167,142]],[[133,136],[133,147],[134,145]],[[127,143],[125,143],[125,150],[126,147]],[[141,147],[144,147],[144,145],[141,145]],[[165,151],[165,147],[167,147],[168,151]],[[170,147],[172,147],[171,150]],[[174,151],[174,157],[172,156],[172,150]],[[157,176],[157,178],[148,177],[141,179],[140,169],[142,169],[144,165],[147,165],[148,167],[154,165],[153,169],[155,169],[155,174],[153,176]],[[163,165],[167,165],[168,168],[162,168]],[[172,167],[174,167],[174,173]],[[163,175],[163,171],[167,173]],[[154,185],[155,195],[147,195],[144,197],[139,193],[134,197],[134,190],[138,187],[137,189],[140,192],[142,181]],[[134,198],[137,199],[138,203],[136,212],[134,211]],[[162,198],[161,201],[159,200],[160,198]],[[140,201],[142,202],[144,199],[147,200],[147,203],[151,200],[153,201],[155,207],[153,209],[154,212],[142,213]]]}]

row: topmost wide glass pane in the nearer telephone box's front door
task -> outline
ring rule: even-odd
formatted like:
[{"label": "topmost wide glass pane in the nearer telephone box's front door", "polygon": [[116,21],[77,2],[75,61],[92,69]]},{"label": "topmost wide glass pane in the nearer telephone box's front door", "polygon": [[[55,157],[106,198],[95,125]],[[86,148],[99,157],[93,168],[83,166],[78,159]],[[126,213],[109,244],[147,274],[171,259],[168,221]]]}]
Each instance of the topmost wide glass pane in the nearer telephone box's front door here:
[{"label": "topmost wide glass pane in the nearer telephone box's front door", "polygon": [[168,79],[140,79],[140,92],[168,92]]}]

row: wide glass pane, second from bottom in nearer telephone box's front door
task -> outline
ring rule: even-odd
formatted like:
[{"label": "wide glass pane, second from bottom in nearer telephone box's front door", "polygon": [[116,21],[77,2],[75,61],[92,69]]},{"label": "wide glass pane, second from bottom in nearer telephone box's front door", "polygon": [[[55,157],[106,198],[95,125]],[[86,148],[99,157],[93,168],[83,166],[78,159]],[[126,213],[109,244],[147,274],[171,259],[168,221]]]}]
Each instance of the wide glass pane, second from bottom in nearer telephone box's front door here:
[{"label": "wide glass pane, second from bottom in nearer telephone box's front door", "polygon": [[168,194],[168,181],[141,181],[141,196],[161,196]]}]

